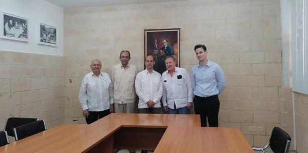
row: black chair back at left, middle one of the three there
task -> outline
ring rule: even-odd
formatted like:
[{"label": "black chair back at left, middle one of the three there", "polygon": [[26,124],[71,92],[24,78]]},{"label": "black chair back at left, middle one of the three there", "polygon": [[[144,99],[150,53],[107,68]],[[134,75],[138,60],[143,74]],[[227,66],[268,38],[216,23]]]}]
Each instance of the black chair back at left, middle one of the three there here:
[{"label": "black chair back at left, middle one of the three there", "polygon": [[45,130],[46,126],[44,120],[31,122],[13,129],[16,141],[22,140]]}]

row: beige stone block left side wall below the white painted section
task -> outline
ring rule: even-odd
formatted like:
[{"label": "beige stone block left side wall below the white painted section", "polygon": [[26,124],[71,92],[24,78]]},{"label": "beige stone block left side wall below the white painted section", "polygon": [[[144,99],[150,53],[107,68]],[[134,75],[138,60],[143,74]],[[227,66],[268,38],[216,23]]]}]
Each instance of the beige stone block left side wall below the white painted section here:
[{"label": "beige stone block left side wall below the white painted section", "polygon": [[64,123],[65,61],[62,56],[0,51],[0,127],[9,117]]}]

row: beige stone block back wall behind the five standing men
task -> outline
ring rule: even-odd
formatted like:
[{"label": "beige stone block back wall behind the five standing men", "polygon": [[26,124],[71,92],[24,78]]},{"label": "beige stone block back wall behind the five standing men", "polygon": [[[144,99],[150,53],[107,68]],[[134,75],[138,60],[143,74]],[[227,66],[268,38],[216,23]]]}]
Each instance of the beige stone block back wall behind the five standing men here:
[{"label": "beige stone block back wall behind the five standing men", "polygon": [[[237,127],[254,146],[266,144],[281,114],[280,1],[188,0],[64,10],[65,122],[85,123],[78,104],[90,61],[102,71],[120,63],[121,50],[143,70],[144,29],[181,28],[181,67],[198,61],[194,46],[223,69],[220,126]],[[71,83],[69,83],[71,80]]]}]

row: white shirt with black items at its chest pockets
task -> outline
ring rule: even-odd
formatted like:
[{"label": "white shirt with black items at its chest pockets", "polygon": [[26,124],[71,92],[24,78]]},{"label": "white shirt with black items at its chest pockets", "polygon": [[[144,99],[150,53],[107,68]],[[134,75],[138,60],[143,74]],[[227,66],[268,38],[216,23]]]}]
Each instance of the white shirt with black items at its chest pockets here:
[{"label": "white shirt with black items at its chest pockets", "polygon": [[163,81],[163,105],[171,109],[187,106],[187,102],[192,102],[192,88],[190,77],[186,69],[176,67],[174,74],[165,71],[162,74]]}]

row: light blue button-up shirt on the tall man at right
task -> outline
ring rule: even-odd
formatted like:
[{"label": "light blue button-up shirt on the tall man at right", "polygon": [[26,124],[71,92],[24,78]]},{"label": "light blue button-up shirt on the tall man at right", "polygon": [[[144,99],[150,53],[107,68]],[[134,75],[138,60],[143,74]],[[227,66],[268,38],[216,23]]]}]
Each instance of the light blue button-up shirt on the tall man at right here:
[{"label": "light blue button-up shirt on the tall man at right", "polygon": [[208,60],[205,66],[196,64],[191,70],[191,87],[199,97],[221,93],[226,87],[222,69],[217,63]]}]

